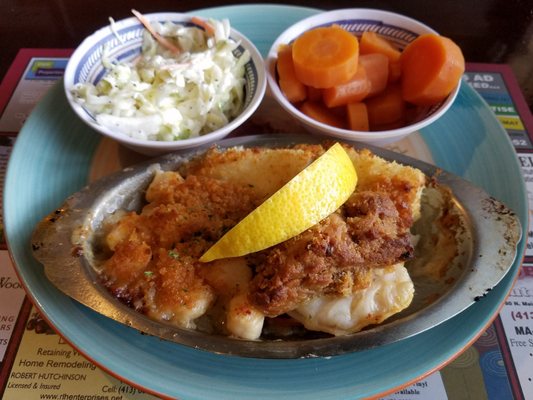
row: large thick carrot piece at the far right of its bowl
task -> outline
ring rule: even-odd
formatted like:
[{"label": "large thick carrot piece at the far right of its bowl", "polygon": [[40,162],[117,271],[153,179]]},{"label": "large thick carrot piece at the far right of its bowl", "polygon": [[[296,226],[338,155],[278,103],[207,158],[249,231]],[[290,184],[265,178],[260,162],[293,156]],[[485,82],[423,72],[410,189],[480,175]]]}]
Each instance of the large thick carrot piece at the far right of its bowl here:
[{"label": "large thick carrot piece at the far right of its bowl", "polygon": [[457,86],[465,59],[457,44],[436,34],[409,43],[401,56],[403,98],[416,105],[444,100]]}]

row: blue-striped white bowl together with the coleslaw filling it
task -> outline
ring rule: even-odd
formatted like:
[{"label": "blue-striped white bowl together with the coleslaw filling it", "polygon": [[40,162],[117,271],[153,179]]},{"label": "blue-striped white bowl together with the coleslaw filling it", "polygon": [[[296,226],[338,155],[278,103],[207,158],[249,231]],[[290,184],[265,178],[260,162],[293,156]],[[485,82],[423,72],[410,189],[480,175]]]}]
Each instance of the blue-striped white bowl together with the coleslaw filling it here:
[{"label": "blue-striped white bowl together with the coleslaw filling it", "polygon": [[263,59],[228,20],[132,12],[110,18],[67,64],[65,94],[86,124],[157,155],[222,139],[254,113]]}]

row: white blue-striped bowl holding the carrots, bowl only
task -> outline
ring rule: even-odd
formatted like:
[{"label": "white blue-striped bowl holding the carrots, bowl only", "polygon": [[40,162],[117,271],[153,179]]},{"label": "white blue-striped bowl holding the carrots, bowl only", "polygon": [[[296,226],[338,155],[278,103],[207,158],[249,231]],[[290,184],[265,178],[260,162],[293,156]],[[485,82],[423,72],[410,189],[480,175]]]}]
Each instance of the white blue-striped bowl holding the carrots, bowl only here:
[{"label": "white blue-striped bowl holding the carrots, bowl only", "polygon": [[400,50],[424,33],[437,33],[414,19],[387,11],[372,9],[342,9],[328,11],[303,19],[285,30],[272,44],[266,59],[269,90],[277,102],[308,131],[341,139],[357,140],[374,145],[392,143],[418,131],[440,118],[452,105],[460,84],[441,103],[426,108],[410,125],[386,131],[353,131],[320,123],[292,105],[281,92],[276,76],[277,52],[282,44],[294,41],[302,33],[320,26],[340,25],[360,37],[364,31],[374,31],[394,43]]}]

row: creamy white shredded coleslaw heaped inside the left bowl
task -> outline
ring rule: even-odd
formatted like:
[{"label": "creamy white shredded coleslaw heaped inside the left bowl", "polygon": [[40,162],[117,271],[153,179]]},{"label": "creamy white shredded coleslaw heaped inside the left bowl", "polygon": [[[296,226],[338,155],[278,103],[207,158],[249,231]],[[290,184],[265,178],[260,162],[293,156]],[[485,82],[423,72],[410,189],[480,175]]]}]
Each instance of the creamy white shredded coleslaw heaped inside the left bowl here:
[{"label": "creamy white shredded coleslaw heaped inside the left bowl", "polygon": [[212,132],[241,111],[248,51],[235,56],[228,20],[210,19],[214,34],[171,22],[153,28],[182,50],[172,54],[148,31],[141,56],[132,64],[109,60],[96,84],[79,83],[76,101],[96,121],[132,138],[175,141]]}]

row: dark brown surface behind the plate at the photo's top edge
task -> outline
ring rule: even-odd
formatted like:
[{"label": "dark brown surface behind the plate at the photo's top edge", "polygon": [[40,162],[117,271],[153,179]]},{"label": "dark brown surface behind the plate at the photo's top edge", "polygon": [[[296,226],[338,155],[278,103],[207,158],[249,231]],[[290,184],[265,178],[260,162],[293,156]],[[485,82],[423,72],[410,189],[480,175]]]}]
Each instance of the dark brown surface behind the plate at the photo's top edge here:
[{"label": "dark brown surface behind the plate at the photo's top edge", "polygon": [[[264,3],[241,1],[240,4]],[[509,64],[533,110],[533,2],[531,0],[340,0],[270,1],[323,9],[366,7],[397,12],[431,26],[456,41],[468,62]],[[236,2],[195,0],[2,0],[0,77],[20,48],[74,48],[107,24],[143,13],[185,12]]]}]

